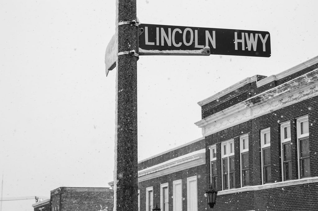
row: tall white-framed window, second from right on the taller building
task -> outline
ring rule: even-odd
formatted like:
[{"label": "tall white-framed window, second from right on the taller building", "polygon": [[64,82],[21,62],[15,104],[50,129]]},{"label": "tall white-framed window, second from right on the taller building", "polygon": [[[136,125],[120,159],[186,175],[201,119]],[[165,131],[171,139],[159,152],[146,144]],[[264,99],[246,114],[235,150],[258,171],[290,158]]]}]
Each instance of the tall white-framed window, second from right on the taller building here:
[{"label": "tall white-framed window, second from right on the taller building", "polygon": [[292,179],[292,147],[290,138],[290,122],[280,125],[280,142],[283,181]]}]

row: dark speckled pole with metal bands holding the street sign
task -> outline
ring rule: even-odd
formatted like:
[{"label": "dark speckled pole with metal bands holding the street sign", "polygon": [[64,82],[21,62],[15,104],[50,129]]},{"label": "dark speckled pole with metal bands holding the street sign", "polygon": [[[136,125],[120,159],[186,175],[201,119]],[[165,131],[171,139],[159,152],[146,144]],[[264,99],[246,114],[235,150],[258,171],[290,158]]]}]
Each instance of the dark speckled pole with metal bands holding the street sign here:
[{"label": "dark speckled pole with metal bands holding the street sign", "polygon": [[136,0],[117,0],[114,211],[138,209]]}]

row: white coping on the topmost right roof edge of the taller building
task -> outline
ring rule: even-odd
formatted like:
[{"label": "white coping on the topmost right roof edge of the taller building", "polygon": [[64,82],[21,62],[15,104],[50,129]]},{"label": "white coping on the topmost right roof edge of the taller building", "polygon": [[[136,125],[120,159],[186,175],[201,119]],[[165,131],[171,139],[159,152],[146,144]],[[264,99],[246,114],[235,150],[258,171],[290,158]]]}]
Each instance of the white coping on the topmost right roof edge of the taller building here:
[{"label": "white coping on the topmost right roof edge of the taller building", "polygon": [[291,74],[294,74],[294,73],[297,73],[307,67],[310,67],[312,65],[315,65],[318,63],[318,56],[310,59],[310,60],[307,60],[299,65],[296,65],[292,68],[289,68],[288,70],[285,70],[277,75],[271,75],[271,76],[268,76],[267,78],[264,78],[262,80],[259,80],[259,81],[256,81],[256,86],[257,87],[261,87],[261,86],[264,86],[265,84],[268,84],[270,82],[273,82],[273,81],[277,81],[277,80],[280,80],[282,78],[285,78],[287,77],[288,75],[291,75]]}]

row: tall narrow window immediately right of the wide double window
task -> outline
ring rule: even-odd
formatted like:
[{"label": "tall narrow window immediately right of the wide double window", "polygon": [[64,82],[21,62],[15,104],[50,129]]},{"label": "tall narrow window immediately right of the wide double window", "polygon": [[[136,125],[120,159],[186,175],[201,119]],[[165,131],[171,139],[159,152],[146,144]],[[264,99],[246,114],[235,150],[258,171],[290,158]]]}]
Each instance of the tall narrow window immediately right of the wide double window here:
[{"label": "tall narrow window immediately right of the wide double window", "polygon": [[248,134],[240,137],[241,152],[241,186],[250,185],[250,171],[248,162]]}]

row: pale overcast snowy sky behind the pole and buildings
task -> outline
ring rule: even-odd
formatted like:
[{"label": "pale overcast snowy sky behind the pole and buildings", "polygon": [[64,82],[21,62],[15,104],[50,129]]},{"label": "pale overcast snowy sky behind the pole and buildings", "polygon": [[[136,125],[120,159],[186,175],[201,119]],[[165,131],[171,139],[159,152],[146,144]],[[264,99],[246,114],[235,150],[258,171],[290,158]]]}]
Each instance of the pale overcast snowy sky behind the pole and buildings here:
[{"label": "pale overcast snowy sky behind the pole and buildings", "polygon": [[[202,137],[194,124],[201,119],[197,102],[317,56],[317,7],[314,0],[137,0],[142,23],[268,31],[272,50],[270,58],[140,57],[138,159]],[[3,0],[0,27],[3,197],[108,187],[115,70],[106,77],[104,56],[115,32],[115,1]],[[31,211],[33,203],[3,201],[2,210]]]}]

